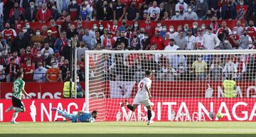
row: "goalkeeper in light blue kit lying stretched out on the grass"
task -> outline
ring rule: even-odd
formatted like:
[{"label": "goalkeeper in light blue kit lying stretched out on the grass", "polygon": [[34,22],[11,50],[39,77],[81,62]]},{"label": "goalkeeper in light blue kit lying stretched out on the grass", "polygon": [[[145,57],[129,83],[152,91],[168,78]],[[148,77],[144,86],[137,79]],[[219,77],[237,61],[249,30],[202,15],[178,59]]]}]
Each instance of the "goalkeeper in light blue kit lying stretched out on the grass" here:
[{"label": "goalkeeper in light blue kit lying stretched out on the grass", "polygon": [[95,122],[95,119],[97,118],[97,110],[92,111],[92,114],[86,113],[85,111],[78,111],[78,114],[69,114],[67,111],[58,110],[57,108],[51,110],[58,111],[61,116],[72,122]]}]

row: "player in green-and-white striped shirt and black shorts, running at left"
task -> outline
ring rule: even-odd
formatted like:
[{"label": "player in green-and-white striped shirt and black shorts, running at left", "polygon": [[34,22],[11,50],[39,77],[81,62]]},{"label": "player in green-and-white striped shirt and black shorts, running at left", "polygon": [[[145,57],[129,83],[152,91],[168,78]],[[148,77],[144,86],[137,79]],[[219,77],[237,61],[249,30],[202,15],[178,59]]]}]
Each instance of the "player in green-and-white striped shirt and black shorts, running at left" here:
[{"label": "player in green-and-white striped shirt and black shorts, running at left", "polygon": [[13,86],[13,96],[12,96],[12,106],[10,106],[8,109],[6,109],[6,112],[14,110],[13,118],[11,119],[11,124],[18,124],[15,119],[18,116],[18,112],[24,112],[26,111],[25,106],[23,102],[21,102],[21,96],[26,96],[31,99],[31,95],[27,94],[24,87],[25,82],[23,79],[23,72],[17,72],[18,79],[15,80],[14,86]]}]

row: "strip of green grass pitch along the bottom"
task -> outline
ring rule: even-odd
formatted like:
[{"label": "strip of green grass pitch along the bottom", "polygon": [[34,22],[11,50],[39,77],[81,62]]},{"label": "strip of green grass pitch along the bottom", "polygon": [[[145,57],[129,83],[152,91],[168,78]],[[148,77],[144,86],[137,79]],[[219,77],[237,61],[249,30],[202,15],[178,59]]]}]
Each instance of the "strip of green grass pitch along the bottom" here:
[{"label": "strip of green grass pitch along the bottom", "polygon": [[256,136],[256,122],[0,123],[0,136]]}]

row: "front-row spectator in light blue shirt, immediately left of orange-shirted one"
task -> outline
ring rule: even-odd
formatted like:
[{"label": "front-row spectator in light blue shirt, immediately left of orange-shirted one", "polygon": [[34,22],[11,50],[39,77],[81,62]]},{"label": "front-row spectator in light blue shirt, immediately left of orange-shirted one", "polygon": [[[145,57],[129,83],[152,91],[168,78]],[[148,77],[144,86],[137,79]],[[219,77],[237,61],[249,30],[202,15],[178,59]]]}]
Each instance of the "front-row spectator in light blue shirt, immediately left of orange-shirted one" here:
[{"label": "front-row spectator in light blue shirt, immediately left of orange-shirted one", "polygon": [[33,81],[46,82],[46,67],[43,67],[42,62],[37,62],[37,69],[33,72]]}]

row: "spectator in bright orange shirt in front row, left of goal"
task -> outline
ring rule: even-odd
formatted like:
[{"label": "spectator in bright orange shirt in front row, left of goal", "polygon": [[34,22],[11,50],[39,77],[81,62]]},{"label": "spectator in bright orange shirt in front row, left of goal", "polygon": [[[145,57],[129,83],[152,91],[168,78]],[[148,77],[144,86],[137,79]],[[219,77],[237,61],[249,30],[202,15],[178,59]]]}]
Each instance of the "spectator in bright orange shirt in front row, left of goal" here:
[{"label": "spectator in bright orange shirt in front row, left of goal", "polygon": [[48,82],[62,82],[60,68],[58,68],[57,62],[52,62],[52,67],[46,71],[46,80]]}]

